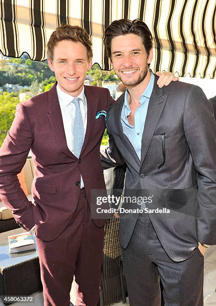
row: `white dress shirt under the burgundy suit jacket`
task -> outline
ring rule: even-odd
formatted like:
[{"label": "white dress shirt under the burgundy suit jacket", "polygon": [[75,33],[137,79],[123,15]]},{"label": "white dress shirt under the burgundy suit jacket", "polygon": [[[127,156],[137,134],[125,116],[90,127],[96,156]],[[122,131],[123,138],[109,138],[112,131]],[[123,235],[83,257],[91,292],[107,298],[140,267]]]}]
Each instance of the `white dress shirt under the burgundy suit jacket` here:
[{"label": "white dress shirt under the burgundy suit jacket", "polygon": [[[60,104],[61,115],[63,119],[63,127],[64,127],[64,133],[66,136],[66,143],[67,143],[68,149],[72,153],[74,153],[73,122],[74,122],[74,116],[75,116],[75,105],[74,103],[71,103],[74,97],[64,92],[63,90],[61,90],[58,84],[56,85],[56,90],[57,90],[57,96],[58,96],[58,100]],[[86,102],[86,97],[84,95],[84,87],[82,88],[82,91],[77,97],[79,98],[80,110],[81,110],[84,134],[85,134],[86,126],[87,126],[87,102]],[[84,184],[83,184],[83,180],[81,177],[80,188],[82,188],[83,186]]]}]

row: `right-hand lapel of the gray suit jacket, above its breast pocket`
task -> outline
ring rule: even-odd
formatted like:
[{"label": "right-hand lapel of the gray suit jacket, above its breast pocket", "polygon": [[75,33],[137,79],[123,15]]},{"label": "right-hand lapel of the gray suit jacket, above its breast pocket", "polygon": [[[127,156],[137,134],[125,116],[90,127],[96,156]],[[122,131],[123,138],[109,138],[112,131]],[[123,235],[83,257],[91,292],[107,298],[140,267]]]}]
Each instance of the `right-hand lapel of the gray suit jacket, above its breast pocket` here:
[{"label": "right-hand lapel of the gray suit jacket, above its breast pocket", "polygon": [[148,147],[150,145],[154,130],[162,113],[166,102],[167,93],[163,94],[163,89],[156,84],[158,77],[154,77],[154,86],[149,99],[147,114],[145,118],[144,129],[141,142],[141,164],[144,161]]}]

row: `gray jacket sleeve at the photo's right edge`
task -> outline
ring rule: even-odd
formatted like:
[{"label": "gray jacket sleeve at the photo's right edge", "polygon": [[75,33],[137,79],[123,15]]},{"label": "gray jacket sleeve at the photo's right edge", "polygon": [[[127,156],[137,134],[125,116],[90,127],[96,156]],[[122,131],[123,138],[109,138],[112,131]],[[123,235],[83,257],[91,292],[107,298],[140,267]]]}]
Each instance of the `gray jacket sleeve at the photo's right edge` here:
[{"label": "gray jacket sleeve at the photo's right edge", "polygon": [[197,238],[200,243],[216,244],[216,122],[198,86],[187,93],[183,126],[197,171]]}]

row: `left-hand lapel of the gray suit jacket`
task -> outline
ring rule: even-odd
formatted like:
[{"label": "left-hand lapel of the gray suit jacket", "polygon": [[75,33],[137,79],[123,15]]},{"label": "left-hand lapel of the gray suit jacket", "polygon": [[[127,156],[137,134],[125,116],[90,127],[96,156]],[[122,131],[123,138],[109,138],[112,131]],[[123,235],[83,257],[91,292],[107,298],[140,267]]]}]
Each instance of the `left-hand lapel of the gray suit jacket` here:
[{"label": "left-hand lapel of the gray suit jacket", "polygon": [[117,131],[119,132],[119,136],[120,136],[121,140],[126,145],[128,151],[130,152],[131,156],[134,158],[135,162],[138,164],[138,166],[140,166],[140,160],[139,160],[139,158],[136,154],[136,151],[134,150],[134,148],[133,148],[131,142],[129,141],[129,139],[127,138],[127,136],[125,136],[125,134],[123,133],[121,118],[120,118],[123,102],[124,102],[124,93],[121,94],[121,96],[115,102],[115,111],[114,111],[115,126],[117,128]]}]

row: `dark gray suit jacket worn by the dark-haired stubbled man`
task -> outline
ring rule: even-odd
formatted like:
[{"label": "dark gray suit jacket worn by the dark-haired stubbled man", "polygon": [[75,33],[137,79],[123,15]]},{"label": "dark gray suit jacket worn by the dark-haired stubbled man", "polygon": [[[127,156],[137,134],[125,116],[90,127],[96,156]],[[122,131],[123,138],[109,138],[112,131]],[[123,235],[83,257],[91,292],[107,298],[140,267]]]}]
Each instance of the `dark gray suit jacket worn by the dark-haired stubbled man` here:
[{"label": "dark gray suit jacket worn by the dark-haired stubbled man", "polygon": [[[157,204],[168,203],[170,213],[149,213],[149,217],[167,254],[180,261],[192,256],[198,241],[216,244],[216,123],[212,106],[198,86],[177,81],[159,88],[156,81],[157,76],[142,134],[141,160],[122,130],[124,94],[107,110],[109,148],[101,160],[104,168],[126,162],[124,194],[131,189],[165,190]],[[164,159],[162,133],[165,162],[158,168]],[[155,208],[155,203],[145,205]],[[137,216],[120,216],[123,248]]]}]

